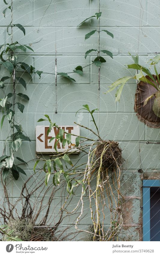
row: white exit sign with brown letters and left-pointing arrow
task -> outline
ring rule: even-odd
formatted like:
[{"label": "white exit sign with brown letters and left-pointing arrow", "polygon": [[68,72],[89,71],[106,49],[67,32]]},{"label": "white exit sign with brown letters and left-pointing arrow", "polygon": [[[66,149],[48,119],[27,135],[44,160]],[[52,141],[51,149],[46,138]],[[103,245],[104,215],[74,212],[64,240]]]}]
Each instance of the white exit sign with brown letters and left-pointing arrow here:
[{"label": "white exit sign with brown letters and left-pointing arrow", "polygon": [[[77,125],[59,125],[59,128],[63,129],[65,132],[75,134],[80,136],[80,127]],[[54,145],[56,143],[56,139],[49,142],[52,137],[56,137],[59,134],[59,129],[57,127],[53,127],[51,132],[47,135],[47,130],[49,126],[38,125],[36,126],[36,153],[37,154],[52,154],[56,153],[54,149]],[[66,138],[66,134],[63,134],[63,138]],[[76,144],[75,142],[76,136],[71,135],[71,144]],[[59,142],[57,144],[57,151],[59,153],[63,153],[66,150],[70,149],[70,152],[76,154],[79,153],[79,150],[76,148],[73,149],[74,146],[68,145],[66,143],[65,147],[63,148],[62,143]]]}]

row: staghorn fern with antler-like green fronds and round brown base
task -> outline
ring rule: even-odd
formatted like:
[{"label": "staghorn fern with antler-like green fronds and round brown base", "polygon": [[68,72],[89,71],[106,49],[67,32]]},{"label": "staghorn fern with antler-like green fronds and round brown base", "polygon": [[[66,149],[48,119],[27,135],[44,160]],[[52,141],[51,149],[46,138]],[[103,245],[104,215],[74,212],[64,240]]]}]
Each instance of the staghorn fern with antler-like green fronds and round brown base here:
[{"label": "staghorn fern with antler-like green fronds and round brown base", "polygon": [[[130,54],[130,53],[129,53]],[[130,54],[131,55],[131,54]],[[160,55],[153,59],[150,65],[154,66],[155,74],[151,74],[148,68],[139,65],[138,56],[132,56],[134,64],[127,65],[129,69],[138,70],[134,76],[127,76],[119,78],[110,85],[110,92],[117,88],[116,101],[120,101],[120,96],[124,85],[130,80],[134,79],[137,82],[137,91],[135,94],[134,110],[137,112],[137,117],[149,127],[160,128],[160,74],[158,74],[156,65],[160,60]]]}]

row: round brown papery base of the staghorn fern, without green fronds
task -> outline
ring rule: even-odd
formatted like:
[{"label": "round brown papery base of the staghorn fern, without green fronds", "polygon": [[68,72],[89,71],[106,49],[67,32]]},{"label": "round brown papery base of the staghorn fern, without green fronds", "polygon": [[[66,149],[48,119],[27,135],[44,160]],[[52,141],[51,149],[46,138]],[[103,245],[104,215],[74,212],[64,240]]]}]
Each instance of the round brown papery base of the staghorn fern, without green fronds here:
[{"label": "round brown papery base of the staghorn fern, without green fronds", "polygon": [[[157,84],[149,76],[146,76],[146,79],[155,84],[157,89],[147,82],[140,81],[137,84],[134,110],[137,112],[137,117],[141,122],[151,128],[160,128],[160,92],[158,91],[160,84],[157,76],[153,75],[153,77]],[[145,102],[146,100],[147,103]]]}]

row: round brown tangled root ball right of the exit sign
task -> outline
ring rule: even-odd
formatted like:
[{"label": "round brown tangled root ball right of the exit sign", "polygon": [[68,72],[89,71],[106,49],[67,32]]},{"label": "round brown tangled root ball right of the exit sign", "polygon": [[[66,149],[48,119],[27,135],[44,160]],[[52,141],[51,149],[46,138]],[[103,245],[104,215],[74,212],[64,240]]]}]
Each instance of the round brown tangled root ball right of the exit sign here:
[{"label": "round brown tangled root ball right of the exit sign", "polygon": [[[99,144],[96,148],[95,155],[98,159],[103,150],[104,147],[107,147],[105,150],[105,153],[102,157],[102,165],[105,166],[107,169],[117,169],[117,165],[120,167],[124,159],[122,158],[122,149],[119,147],[119,143],[116,141],[102,141],[101,144]],[[98,160],[100,163],[100,159]]]}]

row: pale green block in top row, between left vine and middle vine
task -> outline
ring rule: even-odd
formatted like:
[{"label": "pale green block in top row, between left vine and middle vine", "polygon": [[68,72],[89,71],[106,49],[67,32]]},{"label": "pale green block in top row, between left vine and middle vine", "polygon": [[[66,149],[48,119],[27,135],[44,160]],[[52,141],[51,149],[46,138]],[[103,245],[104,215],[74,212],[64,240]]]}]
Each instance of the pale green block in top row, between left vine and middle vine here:
[{"label": "pale green block in top row, between left vine and middle vine", "polygon": [[[63,1],[51,3],[49,7],[50,1],[40,0],[35,2],[34,13],[35,20],[34,26],[47,27],[64,27],[64,26],[77,26],[86,17],[89,17],[89,1],[82,0],[79,2],[78,0],[73,1]],[[48,10],[46,11],[46,9]],[[46,11],[46,13],[44,13]]]}]

